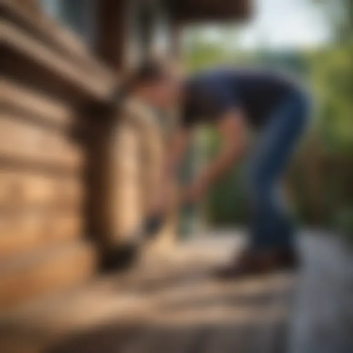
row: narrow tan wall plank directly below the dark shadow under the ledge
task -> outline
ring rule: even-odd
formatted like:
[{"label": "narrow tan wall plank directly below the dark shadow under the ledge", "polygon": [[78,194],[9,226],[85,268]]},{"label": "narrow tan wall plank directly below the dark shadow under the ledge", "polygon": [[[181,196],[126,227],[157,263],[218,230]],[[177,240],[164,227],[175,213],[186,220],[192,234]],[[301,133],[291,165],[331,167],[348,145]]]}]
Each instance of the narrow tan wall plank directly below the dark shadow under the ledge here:
[{"label": "narrow tan wall plank directly below the dark shadow under the ledge", "polygon": [[0,97],[3,108],[30,114],[44,122],[70,126],[75,118],[75,111],[69,104],[9,79],[0,80]]}]

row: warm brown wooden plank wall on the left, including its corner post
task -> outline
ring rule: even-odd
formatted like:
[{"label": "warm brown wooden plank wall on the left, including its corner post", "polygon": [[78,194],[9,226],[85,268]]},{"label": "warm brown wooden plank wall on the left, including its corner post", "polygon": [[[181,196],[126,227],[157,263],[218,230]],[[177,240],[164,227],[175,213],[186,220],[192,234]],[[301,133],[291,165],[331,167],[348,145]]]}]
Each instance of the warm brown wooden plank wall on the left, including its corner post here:
[{"label": "warm brown wooden plank wall on the left, including its corner post", "polygon": [[163,154],[155,117],[112,99],[124,1],[100,1],[96,54],[38,3],[0,3],[0,309],[86,280],[129,242]]}]

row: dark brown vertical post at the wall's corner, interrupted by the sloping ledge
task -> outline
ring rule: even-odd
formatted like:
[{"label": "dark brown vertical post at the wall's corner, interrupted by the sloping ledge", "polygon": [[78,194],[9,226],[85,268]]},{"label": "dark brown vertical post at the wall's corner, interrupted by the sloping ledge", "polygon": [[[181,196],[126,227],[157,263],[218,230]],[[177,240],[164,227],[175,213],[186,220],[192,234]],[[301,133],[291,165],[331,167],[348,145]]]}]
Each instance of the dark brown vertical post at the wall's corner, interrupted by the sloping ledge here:
[{"label": "dark brown vertical post at the wall's corner, interrupted by the sloping ledge", "polygon": [[[127,3],[127,0],[98,1],[96,52],[116,76],[121,74],[124,64]],[[104,255],[114,245],[111,241],[114,232],[111,206],[111,178],[114,175],[112,161],[114,138],[119,121],[122,120],[120,108],[114,102],[114,91],[111,92],[108,104],[90,106],[86,115],[90,116],[87,142],[88,231]]]}]

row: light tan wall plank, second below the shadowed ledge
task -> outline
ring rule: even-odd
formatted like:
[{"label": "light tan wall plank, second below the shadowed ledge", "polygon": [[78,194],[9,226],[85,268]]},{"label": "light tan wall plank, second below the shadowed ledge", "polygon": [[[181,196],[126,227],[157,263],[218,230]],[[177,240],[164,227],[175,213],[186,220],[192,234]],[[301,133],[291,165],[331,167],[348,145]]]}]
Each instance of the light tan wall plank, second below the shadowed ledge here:
[{"label": "light tan wall plank, second below the shadowed ledge", "polygon": [[83,152],[64,134],[0,115],[0,156],[80,168]]}]

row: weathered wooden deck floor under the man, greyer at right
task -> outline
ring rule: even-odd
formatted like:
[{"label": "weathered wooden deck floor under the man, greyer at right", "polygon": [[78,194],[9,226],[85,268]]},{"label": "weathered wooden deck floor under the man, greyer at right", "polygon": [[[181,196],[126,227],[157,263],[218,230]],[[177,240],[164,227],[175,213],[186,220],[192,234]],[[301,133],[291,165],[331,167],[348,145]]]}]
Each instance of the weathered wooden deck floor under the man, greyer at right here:
[{"label": "weathered wooden deck floor under the man, greyer at right", "polygon": [[303,269],[220,282],[241,236],[194,240],[128,274],[0,318],[2,353],[351,353],[353,261],[337,241],[301,240]]}]

